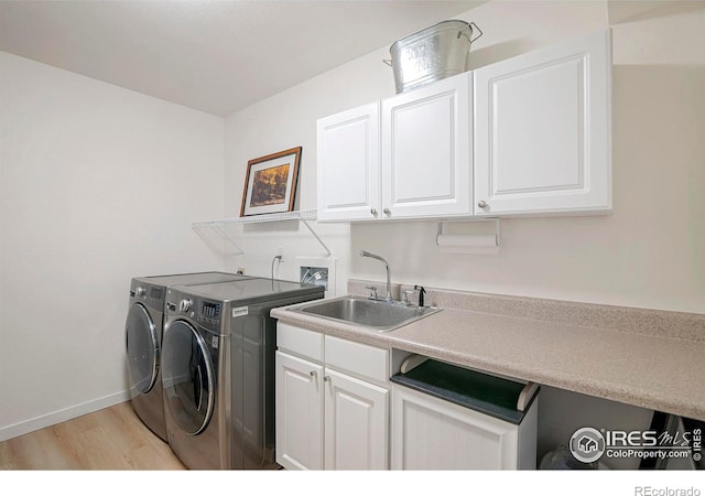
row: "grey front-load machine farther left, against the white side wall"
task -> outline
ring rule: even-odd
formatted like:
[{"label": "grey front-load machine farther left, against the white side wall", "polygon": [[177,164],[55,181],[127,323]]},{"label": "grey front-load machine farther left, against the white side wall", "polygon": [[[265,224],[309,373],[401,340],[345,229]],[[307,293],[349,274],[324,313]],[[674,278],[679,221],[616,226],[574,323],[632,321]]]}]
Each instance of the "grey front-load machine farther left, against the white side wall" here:
[{"label": "grey front-load machine farther left, against the white side wall", "polygon": [[133,278],[124,325],[128,381],[132,408],[142,422],[166,441],[160,352],[164,302],[170,285],[205,284],[246,279],[227,272],[195,272]]}]

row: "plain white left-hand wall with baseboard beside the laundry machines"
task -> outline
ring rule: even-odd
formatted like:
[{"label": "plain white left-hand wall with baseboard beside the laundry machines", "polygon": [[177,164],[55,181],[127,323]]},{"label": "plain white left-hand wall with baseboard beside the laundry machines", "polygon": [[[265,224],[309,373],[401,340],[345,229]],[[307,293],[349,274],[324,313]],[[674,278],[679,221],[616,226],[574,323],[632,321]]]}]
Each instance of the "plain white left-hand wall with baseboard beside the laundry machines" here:
[{"label": "plain white left-hand wall with baseboard beside the laundry machines", "polygon": [[127,398],[132,277],[223,268],[191,229],[223,214],[223,138],[0,52],[0,440]]}]

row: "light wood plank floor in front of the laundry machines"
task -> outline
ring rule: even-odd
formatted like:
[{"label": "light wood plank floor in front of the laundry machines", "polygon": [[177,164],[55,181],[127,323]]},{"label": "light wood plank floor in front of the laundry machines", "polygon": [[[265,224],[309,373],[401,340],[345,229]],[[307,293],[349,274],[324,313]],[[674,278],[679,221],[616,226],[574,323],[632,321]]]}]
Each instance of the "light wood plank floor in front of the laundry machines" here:
[{"label": "light wood plank floor in front of the laundry machines", "polygon": [[0,443],[0,470],[185,470],[129,402]]}]

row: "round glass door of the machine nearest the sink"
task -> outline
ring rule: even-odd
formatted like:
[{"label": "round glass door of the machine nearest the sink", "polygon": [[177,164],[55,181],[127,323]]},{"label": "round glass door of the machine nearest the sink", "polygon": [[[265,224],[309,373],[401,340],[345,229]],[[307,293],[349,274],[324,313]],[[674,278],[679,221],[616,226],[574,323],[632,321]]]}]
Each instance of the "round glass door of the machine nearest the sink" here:
[{"label": "round glass door of the machine nearest the sink", "polygon": [[188,434],[200,433],[215,405],[215,373],[208,346],[187,322],[176,321],[164,333],[162,384],[164,403]]}]

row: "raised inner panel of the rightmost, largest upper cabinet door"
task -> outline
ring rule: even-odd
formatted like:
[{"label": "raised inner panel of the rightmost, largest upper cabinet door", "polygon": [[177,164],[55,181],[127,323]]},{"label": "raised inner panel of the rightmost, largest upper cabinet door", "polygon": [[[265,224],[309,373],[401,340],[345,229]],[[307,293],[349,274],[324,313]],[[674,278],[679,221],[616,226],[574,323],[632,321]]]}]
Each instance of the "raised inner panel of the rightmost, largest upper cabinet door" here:
[{"label": "raised inner panel of the rightmost, largest upper cabinet door", "polygon": [[[490,137],[492,131],[501,134],[490,142],[503,165],[495,171],[498,194],[585,186],[581,151],[586,95],[578,89],[584,72],[583,57],[568,58],[494,83],[497,128]],[[511,145],[502,148],[501,141]]]}]

